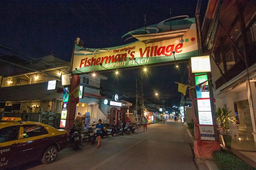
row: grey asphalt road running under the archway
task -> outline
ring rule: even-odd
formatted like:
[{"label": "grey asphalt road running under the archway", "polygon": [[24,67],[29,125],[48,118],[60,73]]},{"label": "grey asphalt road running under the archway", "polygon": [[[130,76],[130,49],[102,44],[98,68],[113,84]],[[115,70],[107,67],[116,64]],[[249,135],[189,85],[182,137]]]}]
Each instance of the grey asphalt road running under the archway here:
[{"label": "grey asphalt road running under the archway", "polygon": [[84,143],[59,152],[52,164],[34,161],[15,169],[180,169],[194,170],[192,141],[184,125],[167,121],[148,125],[148,132],[115,135],[102,139],[101,146]]}]

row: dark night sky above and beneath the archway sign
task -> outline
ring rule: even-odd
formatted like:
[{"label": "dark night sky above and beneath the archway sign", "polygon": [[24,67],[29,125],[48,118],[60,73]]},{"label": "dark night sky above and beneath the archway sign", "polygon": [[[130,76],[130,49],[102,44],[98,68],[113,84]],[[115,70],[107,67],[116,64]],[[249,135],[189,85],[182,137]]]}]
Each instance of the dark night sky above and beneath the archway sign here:
[{"label": "dark night sky above and beneath the archway sign", "polygon": [[[34,58],[50,55],[70,61],[76,37],[84,40],[86,48],[107,48],[126,44],[121,37],[132,30],[156,24],[172,17],[188,15],[195,17],[197,0],[159,1],[0,1],[0,43],[22,54]],[[202,13],[207,1],[202,4]],[[201,16],[203,20],[204,15]],[[0,53],[13,55],[0,48]],[[24,57],[24,56],[20,56]],[[26,57],[24,57],[25,59]],[[140,79],[141,69],[121,70],[118,78],[113,73],[102,73],[108,77],[103,81],[104,89],[135,94],[135,79]],[[185,75],[184,75],[185,74]],[[177,105],[181,93],[174,81],[186,83],[186,63],[150,67],[148,77],[143,77],[147,100],[169,97],[165,105]],[[138,86],[140,88],[140,85]],[[155,93],[155,92],[154,92]],[[124,100],[126,100],[124,98]],[[128,100],[128,99],[127,99]]]}]

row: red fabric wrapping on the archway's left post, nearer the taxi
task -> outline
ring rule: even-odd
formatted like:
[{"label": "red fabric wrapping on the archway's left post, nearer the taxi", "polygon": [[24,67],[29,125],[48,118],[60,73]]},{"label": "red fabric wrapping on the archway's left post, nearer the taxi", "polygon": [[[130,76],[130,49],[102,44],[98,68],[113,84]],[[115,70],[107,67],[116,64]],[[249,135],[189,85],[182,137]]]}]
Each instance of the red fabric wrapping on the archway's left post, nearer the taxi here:
[{"label": "red fabric wrapping on the archway's left post, nearer the taxi", "polygon": [[[73,92],[77,86],[80,85],[80,77],[78,75],[72,76],[72,85],[70,85],[69,92]],[[67,112],[67,119],[66,119],[66,125],[65,130],[68,131],[71,127],[73,127],[75,122],[75,116],[76,116],[76,104],[79,102],[79,98],[75,98],[73,94],[69,95],[68,97],[68,112]]]}]

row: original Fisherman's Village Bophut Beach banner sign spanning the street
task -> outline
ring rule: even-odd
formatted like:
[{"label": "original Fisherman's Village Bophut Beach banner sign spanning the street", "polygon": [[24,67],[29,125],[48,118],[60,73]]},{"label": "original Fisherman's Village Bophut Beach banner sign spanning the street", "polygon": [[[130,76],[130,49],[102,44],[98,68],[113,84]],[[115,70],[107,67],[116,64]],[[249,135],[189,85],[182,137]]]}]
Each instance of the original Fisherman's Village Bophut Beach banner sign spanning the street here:
[{"label": "original Fisherman's Village Bophut Beach banner sign spanning the street", "polygon": [[195,18],[174,18],[177,20],[171,21],[171,30],[169,18],[126,33],[123,37],[137,39],[130,44],[110,48],[85,48],[75,45],[73,62],[71,61],[72,74],[172,62],[174,56],[176,60],[198,56]]}]

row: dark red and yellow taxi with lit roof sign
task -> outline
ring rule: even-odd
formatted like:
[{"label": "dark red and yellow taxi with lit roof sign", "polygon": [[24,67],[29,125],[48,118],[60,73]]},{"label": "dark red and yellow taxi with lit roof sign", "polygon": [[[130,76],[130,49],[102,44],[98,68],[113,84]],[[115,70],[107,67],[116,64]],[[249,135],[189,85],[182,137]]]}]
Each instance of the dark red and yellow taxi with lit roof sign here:
[{"label": "dark red and yellow taxi with lit roof sign", "polygon": [[52,163],[68,146],[68,133],[43,123],[3,117],[0,121],[0,169],[33,160]]}]

